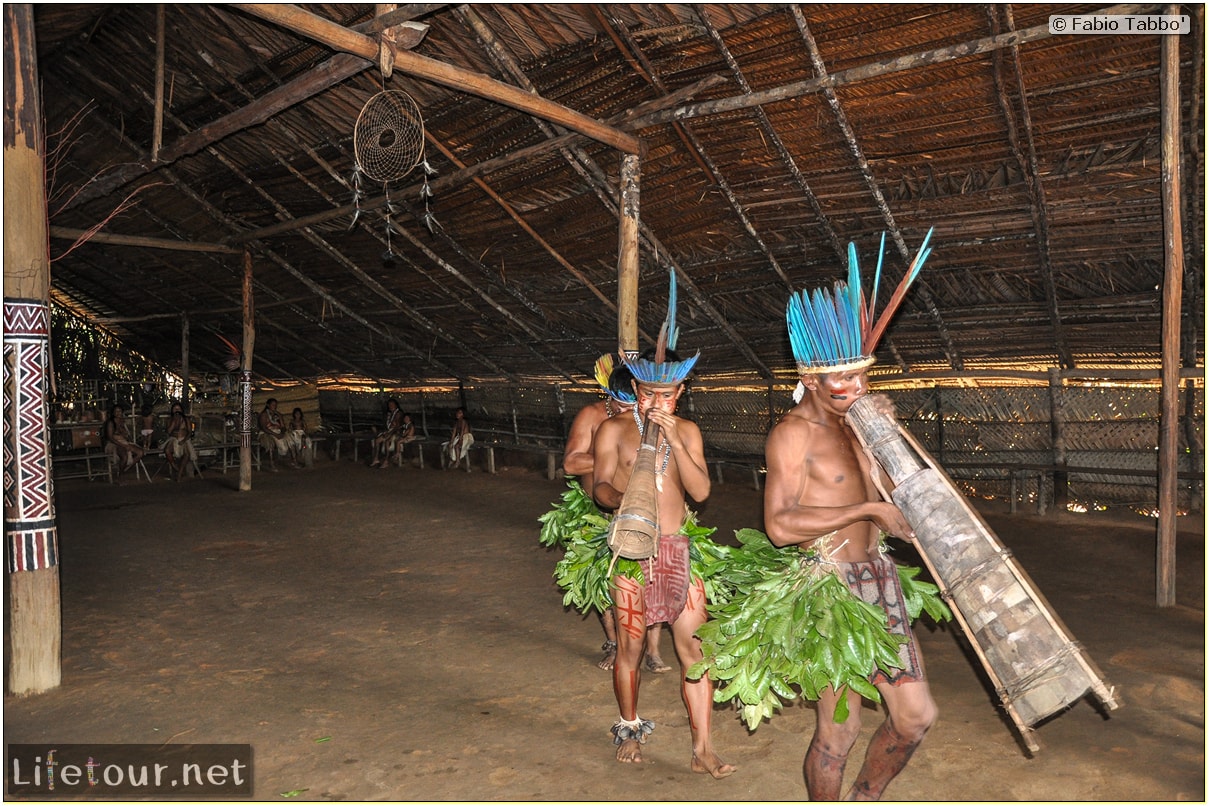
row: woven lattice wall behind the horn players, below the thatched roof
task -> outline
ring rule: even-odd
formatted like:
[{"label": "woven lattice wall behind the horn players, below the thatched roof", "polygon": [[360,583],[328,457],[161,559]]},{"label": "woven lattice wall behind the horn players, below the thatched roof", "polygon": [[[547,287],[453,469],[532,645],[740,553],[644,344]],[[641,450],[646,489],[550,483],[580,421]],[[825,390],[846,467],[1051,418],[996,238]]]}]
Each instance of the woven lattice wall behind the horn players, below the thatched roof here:
[{"label": "woven lattice wall behind the horn players, below the thatched roof", "polygon": [[[769,429],[793,406],[792,392],[786,384],[739,388],[702,382],[689,387],[678,411],[701,428],[708,460],[759,468]],[[1051,468],[1064,454],[1072,469],[1068,475],[1072,505],[1144,511],[1156,505],[1157,388],[1059,387],[1057,400],[1046,387],[887,394],[908,430],[970,495],[1006,500],[1014,489],[1025,503],[1039,494],[1053,500],[1052,476],[1040,468]],[[380,394],[320,390],[323,422],[332,430],[372,430],[382,423],[392,396],[421,433],[434,437],[449,434],[455,410],[464,406],[480,440],[543,446],[561,446],[575,413],[601,399],[595,387],[555,384]],[[1181,390],[1180,411],[1179,469],[1203,474],[1204,390]],[[1094,471],[1099,468],[1105,472]],[[1128,470],[1138,475],[1122,472]],[[1181,511],[1201,509],[1203,483],[1181,479],[1179,497]]]}]

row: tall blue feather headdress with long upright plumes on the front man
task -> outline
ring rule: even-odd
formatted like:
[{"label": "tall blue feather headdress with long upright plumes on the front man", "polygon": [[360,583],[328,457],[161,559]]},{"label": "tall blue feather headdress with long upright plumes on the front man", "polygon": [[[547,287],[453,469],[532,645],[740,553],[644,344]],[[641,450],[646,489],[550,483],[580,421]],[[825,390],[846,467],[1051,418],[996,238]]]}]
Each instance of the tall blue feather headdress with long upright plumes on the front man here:
[{"label": "tall blue feather headdress with long upright plumes on the front man", "polygon": [[835,280],[833,289],[821,288],[814,291],[803,289],[789,297],[785,318],[789,326],[789,344],[793,347],[793,359],[798,363],[799,373],[846,372],[874,363],[873,352],[881,341],[891,317],[902,305],[907,289],[915,282],[919,271],[924,268],[924,261],[932,254],[927,245],[931,238],[932,230],[929,230],[915,254],[915,260],[895,289],[877,324],[873,323],[873,314],[878,303],[878,285],[881,282],[885,233],[881,233],[878,271],[873,278],[873,296],[868,305],[861,289],[861,269],[856,261],[854,243],[848,244],[846,283]]}]

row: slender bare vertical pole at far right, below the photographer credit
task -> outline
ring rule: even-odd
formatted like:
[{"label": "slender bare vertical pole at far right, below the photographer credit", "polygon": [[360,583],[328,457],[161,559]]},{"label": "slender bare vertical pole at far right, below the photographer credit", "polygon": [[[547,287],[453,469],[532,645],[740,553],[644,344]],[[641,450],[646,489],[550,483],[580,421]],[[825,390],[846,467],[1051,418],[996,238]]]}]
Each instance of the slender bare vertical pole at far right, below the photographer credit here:
[{"label": "slender bare vertical pole at far right, below the photographer credit", "polygon": [[[1179,5],[1165,13],[1180,13]],[[1158,425],[1158,607],[1175,604],[1175,508],[1180,427],[1180,312],[1184,296],[1184,224],[1180,218],[1180,37],[1162,36],[1163,369]]]}]

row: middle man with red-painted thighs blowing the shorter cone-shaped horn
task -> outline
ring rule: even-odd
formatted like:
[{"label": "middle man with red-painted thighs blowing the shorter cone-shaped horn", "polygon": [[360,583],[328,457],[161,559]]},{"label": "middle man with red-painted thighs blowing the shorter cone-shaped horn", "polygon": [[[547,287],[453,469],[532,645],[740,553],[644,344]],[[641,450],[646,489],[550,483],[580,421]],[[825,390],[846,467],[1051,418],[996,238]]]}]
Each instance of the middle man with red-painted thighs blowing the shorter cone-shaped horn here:
[{"label": "middle man with red-painted thighs blowing the shorter cone-shaped horn", "polygon": [[[707,674],[688,679],[684,672],[699,662],[701,642],[694,636],[707,620],[705,586],[692,579],[689,568],[689,538],[684,534],[689,520],[687,499],[704,501],[710,495],[710,474],[705,463],[701,430],[695,423],[676,416],[676,404],[684,392],[684,379],[700,356],[678,360],[676,346],[676,276],[672,274],[669,313],[653,355],[624,358],[634,375],[637,405],[631,416],[613,417],[596,430],[594,442],[595,483],[592,497],[602,509],[618,510],[627,486],[646,483],[635,480],[640,446],[647,429],[658,428],[654,446],[654,489],[659,533],[658,552],[642,559],[642,582],[618,573],[613,580],[613,602],[617,614],[617,661],[613,666],[613,690],[620,713],[613,725],[617,760],[624,764],[642,761],[642,744],[654,730],[654,723],[638,717],[638,685],[642,677],[640,661],[647,628],[650,625],[671,625],[676,655],[681,662],[681,690],[688,708],[689,731],[693,737],[694,772],[724,778],[735,771],[713,750],[710,721],[713,711],[713,684]],[[652,435],[654,436],[654,435]],[[614,526],[625,517],[619,511]]]}]

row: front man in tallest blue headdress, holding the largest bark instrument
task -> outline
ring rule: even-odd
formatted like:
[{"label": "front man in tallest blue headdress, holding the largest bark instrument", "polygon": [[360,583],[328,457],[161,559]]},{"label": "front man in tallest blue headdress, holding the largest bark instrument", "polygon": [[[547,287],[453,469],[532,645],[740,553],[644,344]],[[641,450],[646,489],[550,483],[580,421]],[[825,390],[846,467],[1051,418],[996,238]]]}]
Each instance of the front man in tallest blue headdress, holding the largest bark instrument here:
[{"label": "front man in tallest blue headdress, holding the largest bark instrument", "polygon": [[[899,509],[879,495],[874,474],[880,469],[862,451],[845,421],[852,404],[868,394],[866,372],[874,361],[877,337],[927,257],[926,245],[925,239],[872,332],[872,309],[863,305],[852,247],[846,284],[837,282],[834,291],[816,289],[791,297],[787,321],[802,396],[765,443],[764,522],[769,539],[779,546],[816,549],[835,564],[840,579],[856,596],[885,610],[890,632],[909,638],[899,651],[903,668],[895,669],[893,675],[873,669],[869,677],[889,715],[869,741],[848,800],[878,800],[906,767],[937,715],[896,566],[884,553],[883,535],[913,540],[915,534]],[[880,260],[878,268],[880,273]],[[873,303],[875,289],[877,283]],[[887,413],[893,413],[889,398],[877,399],[889,407]],[[841,723],[835,721],[838,696],[828,688],[818,700],[815,735],[803,761],[811,800],[839,799],[844,766],[861,731],[860,695],[844,690],[849,717]]]}]

